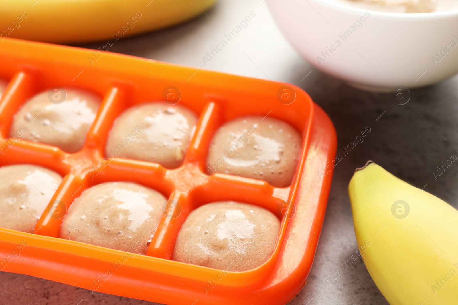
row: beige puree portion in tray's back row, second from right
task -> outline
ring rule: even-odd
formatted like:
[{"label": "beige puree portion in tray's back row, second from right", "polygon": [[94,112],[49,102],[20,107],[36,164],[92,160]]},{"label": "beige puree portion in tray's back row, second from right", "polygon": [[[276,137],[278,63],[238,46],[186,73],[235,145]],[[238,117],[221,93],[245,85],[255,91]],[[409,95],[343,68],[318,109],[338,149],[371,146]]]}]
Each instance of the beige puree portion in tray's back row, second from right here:
[{"label": "beige puree portion in tray's back row, second from right", "polygon": [[196,115],[185,107],[166,103],[134,106],[114,121],[105,153],[175,168],[183,163],[196,123]]}]

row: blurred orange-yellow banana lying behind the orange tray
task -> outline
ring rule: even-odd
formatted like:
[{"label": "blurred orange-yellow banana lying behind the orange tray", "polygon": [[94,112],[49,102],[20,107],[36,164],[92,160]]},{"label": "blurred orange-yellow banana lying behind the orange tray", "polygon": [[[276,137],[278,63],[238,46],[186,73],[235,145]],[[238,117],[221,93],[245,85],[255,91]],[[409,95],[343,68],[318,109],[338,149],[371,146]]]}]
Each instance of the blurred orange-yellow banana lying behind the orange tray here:
[{"label": "blurred orange-yellow banana lying behind the orange tray", "polygon": [[189,20],[215,1],[0,0],[0,43],[6,37],[51,43],[114,42]]}]

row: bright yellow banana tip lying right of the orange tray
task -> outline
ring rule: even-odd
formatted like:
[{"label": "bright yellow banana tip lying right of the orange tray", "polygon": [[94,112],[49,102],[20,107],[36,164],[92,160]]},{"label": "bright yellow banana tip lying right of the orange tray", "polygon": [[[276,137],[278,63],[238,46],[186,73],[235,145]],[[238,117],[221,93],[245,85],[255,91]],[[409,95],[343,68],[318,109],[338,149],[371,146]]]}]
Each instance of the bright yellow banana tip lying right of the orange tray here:
[{"label": "bright yellow banana tip lying right of the orange tray", "polygon": [[458,211],[369,161],[349,184],[363,261],[391,305],[458,304]]}]

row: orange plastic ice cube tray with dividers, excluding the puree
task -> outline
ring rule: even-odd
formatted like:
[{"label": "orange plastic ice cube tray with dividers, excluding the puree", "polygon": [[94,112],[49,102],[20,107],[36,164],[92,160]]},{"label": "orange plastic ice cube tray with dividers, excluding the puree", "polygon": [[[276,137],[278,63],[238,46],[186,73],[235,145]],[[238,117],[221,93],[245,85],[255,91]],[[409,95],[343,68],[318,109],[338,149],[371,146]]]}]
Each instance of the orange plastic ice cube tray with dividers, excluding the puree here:
[{"label": "orange plastic ice cube tray with dividers, excluding the puree", "polygon": [[[9,80],[0,101],[0,166],[36,164],[64,177],[34,234],[0,229],[1,270],[170,305],[285,304],[305,285],[322,229],[337,136],[326,113],[303,90],[14,38],[0,43],[0,62],[0,77]],[[78,87],[103,96],[84,148],[77,153],[8,139],[12,117],[21,105],[53,86]],[[199,116],[185,161],[178,168],[107,159],[104,153],[115,118],[128,107],[150,101],[179,101]],[[207,175],[212,134],[224,122],[251,114],[284,120],[302,134],[300,161],[289,187],[229,174]],[[73,200],[88,187],[109,181],[140,183],[169,198],[147,255],[58,238]],[[262,266],[222,272],[171,260],[176,236],[191,210],[220,200],[256,204],[281,220],[273,254]]]}]

